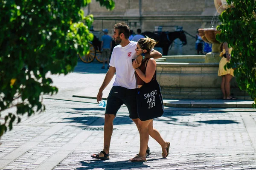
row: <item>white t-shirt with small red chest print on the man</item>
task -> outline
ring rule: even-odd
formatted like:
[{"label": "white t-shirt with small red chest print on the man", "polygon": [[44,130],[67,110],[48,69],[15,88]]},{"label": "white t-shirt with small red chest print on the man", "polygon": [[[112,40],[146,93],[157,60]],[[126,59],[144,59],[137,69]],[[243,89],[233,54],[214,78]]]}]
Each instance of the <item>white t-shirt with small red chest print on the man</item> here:
[{"label": "white t-shirt with small red chest print on the man", "polygon": [[137,42],[130,41],[128,45],[114,47],[110,63],[111,67],[116,68],[116,79],[113,86],[121,86],[128,89],[138,88],[134,68],[131,59],[136,58]]}]

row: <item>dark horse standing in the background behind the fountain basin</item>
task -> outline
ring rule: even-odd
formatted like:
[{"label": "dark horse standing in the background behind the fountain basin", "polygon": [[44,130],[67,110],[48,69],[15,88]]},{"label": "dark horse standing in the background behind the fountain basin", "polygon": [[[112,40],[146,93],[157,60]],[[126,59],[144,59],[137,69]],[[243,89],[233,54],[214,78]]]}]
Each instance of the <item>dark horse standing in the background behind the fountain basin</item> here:
[{"label": "dark horse standing in the background behind the fountain basin", "polygon": [[169,46],[172,45],[172,42],[179,38],[182,42],[182,45],[186,45],[186,35],[184,31],[173,31],[173,32],[163,32],[163,31],[155,31],[155,32],[149,32],[145,31],[142,33],[142,35],[145,37],[149,37],[154,39],[157,44],[155,47],[161,47],[163,48],[163,55],[168,55]]}]

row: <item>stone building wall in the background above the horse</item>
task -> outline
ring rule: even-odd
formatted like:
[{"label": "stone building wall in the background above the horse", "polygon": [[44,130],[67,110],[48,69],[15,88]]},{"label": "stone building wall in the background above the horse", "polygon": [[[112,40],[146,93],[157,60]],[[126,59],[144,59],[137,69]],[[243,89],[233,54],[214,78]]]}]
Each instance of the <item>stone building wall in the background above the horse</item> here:
[{"label": "stone building wall in the background above the horse", "polygon": [[[128,23],[136,32],[154,31],[155,26],[163,26],[163,31],[175,31],[175,26],[182,26],[186,31],[188,44],[182,47],[183,55],[194,55],[195,36],[198,28],[209,28],[214,22],[218,24],[218,16],[213,0],[114,0],[115,9],[108,11],[96,0],[84,8],[84,14],[93,14],[93,29],[110,30],[118,22]],[[213,18],[214,17],[214,18]],[[175,55],[175,49],[169,50],[169,55]]]}]

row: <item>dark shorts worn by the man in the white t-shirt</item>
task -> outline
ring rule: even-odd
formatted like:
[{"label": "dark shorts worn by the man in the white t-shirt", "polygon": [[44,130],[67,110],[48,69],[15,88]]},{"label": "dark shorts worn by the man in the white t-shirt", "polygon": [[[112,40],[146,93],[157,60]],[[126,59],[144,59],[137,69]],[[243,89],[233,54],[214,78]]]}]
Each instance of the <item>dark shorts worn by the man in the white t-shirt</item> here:
[{"label": "dark shorts worn by the man in the white t-shirt", "polygon": [[137,88],[128,89],[121,86],[113,86],[109,95],[105,114],[113,114],[116,116],[119,108],[125,104],[130,113],[131,119],[137,119]]}]

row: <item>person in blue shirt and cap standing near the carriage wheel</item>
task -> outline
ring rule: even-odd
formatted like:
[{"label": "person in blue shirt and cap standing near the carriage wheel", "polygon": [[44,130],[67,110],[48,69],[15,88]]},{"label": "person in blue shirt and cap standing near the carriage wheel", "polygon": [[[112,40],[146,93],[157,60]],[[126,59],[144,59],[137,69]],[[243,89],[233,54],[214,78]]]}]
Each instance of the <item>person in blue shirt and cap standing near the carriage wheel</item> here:
[{"label": "person in blue shirt and cap standing near the carriage wheel", "polygon": [[[103,59],[103,66],[102,69],[105,68],[105,62],[107,62],[107,65],[109,65],[109,57],[110,57],[110,51],[112,48],[112,37],[108,35],[108,29],[103,29],[104,35],[101,38],[101,50],[102,50],[102,59]],[[109,66],[108,66],[109,68]]]}]

